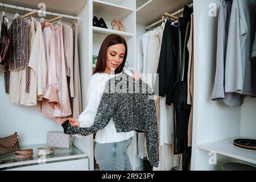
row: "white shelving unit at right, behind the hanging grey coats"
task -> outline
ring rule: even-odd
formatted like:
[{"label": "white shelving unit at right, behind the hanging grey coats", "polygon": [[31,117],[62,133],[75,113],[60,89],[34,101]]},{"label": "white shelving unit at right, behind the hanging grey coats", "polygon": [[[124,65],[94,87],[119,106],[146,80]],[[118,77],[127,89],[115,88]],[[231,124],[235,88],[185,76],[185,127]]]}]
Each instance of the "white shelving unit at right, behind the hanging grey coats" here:
[{"label": "white shelving unit at right, behind the hanging grey coats", "polygon": [[[233,145],[238,138],[256,138],[256,100],[247,97],[241,107],[210,100],[216,68],[218,16],[209,16],[209,4],[193,1],[194,8],[194,110],[192,170],[221,170],[226,162],[256,166],[256,152]],[[217,12],[218,15],[218,12]],[[204,28],[202,28],[204,27]],[[240,137],[242,136],[242,137]],[[210,163],[216,152],[216,164]]]}]

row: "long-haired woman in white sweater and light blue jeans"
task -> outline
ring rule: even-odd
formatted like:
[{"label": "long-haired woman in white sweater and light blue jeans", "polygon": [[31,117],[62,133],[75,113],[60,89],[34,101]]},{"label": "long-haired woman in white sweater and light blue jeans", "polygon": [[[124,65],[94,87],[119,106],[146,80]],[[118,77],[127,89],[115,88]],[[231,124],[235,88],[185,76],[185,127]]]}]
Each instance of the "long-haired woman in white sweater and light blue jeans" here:
[{"label": "long-haired woman in white sweater and light blue jeans", "polygon": [[[127,57],[127,44],[119,35],[109,35],[101,45],[97,65],[88,87],[88,106],[79,119],[68,118],[72,126],[90,127],[96,117],[98,105],[104,92],[105,83],[110,78],[121,75]],[[133,74],[139,80],[138,74]],[[111,106],[110,106],[111,107]],[[63,122],[67,121],[64,119]],[[117,133],[113,118],[108,125],[96,134],[95,159],[100,170],[132,170],[127,148],[135,131]]]}]

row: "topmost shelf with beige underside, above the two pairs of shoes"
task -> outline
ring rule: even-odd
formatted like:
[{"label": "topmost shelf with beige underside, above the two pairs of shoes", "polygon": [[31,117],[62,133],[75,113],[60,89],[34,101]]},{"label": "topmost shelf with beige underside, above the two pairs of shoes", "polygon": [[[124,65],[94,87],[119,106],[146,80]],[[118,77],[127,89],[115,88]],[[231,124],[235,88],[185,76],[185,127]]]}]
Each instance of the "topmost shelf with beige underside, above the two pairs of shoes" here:
[{"label": "topmost shelf with beige underside, above the two pairs of shoes", "polygon": [[93,1],[93,15],[96,15],[98,19],[103,18],[104,20],[113,19],[124,19],[129,14],[133,13],[133,9],[127,8],[125,6],[115,5],[113,3],[108,3],[104,1]]}]

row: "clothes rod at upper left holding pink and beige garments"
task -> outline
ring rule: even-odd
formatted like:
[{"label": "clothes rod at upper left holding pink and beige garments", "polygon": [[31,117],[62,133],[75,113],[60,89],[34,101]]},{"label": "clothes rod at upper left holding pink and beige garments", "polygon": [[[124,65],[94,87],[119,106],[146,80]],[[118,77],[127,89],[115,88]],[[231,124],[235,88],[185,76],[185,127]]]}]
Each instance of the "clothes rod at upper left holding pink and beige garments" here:
[{"label": "clothes rod at upper left holding pink and beige garments", "polygon": [[59,13],[52,13],[49,11],[41,11],[41,10],[35,10],[35,9],[30,9],[27,7],[21,7],[21,6],[14,6],[14,5],[8,5],[6,3],[0,3],[0,6],[2,7],[9,7],[11,9],[16,9],[16,10],[24,10],[24,11],[36,11],[36,13],[40,14],[47,14],[47,15],[53,15],[53,16],[62,16],[64,18],[71,18],[71,19],[77,19],[79,20],[79,16],[70,16],[70,15],[64,15],[64,14],[59,14]]}]

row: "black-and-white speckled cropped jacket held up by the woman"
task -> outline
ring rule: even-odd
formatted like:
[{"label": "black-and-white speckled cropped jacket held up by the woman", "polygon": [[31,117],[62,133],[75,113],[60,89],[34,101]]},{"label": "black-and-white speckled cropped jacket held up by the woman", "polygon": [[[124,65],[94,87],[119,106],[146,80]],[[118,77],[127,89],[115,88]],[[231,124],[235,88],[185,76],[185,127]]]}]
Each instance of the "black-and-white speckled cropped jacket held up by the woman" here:
[{"label": "black-and-white speckled cropped jacket held up by the woman", "polygon": [[65,134],[90,135],[104,129],[111,118],[117,132],[145,133],[148,159],[151,166],[158,167],[158,123],[150,86],[142,80],[135,81],[126,73],[114,77],[106,82],[93,126],[73,127],[68,121],[62,126]]}]

